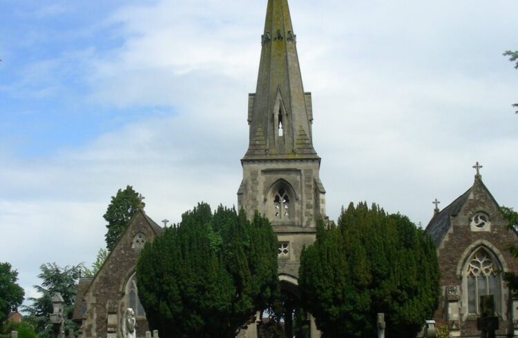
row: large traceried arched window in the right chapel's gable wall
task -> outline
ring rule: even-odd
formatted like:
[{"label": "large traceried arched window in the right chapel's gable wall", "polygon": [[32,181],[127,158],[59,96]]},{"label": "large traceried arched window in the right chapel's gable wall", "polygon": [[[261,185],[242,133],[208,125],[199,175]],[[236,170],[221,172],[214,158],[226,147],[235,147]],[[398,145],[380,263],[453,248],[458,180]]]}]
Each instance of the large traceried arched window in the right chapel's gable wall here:
[{"label": "large traceried arched window in the right chapel's gable wall", "polygon": [[468,288],[468,312],[480,313],[480,296],[493,295],[495,311],[500,312],[501,279],[499,264],[483,248],[477,250],[468,261],[466,270]]}]

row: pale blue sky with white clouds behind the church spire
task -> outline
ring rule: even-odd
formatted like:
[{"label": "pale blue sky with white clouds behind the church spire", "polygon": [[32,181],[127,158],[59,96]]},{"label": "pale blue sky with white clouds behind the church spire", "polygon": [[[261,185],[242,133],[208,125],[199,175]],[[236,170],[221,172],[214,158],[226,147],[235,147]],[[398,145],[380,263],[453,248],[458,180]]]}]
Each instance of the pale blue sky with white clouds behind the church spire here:
[{"label": "pale blue sky with white clouds behind the church spire", "polygon": [[[133,186],[176,223],[237,203],[267,0],[0,0],[0,261],[105,246]],[[327,215],[378,203],[426,226],[484,183],[518,208],[518,1],[291,0]]]}]

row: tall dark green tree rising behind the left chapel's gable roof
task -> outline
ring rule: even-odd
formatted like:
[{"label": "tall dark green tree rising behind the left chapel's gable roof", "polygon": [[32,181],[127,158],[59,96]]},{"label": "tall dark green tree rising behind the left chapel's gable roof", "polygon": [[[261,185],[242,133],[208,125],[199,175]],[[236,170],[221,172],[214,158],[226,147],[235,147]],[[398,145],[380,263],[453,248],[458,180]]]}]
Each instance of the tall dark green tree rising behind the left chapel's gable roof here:
[{"label": "tall dark green tree rising behind the left chapel's gable roof", "polygon": [[111,203],[103,215],[108,222],[108,232],[105,235],[108,251],[113,249],[135,212],[139,208],[144,208],[145,204],[139,197],[140,194],[133,190],[132,186],[126,186],[124,190],[119,189],[117,195],[111,197]]}]

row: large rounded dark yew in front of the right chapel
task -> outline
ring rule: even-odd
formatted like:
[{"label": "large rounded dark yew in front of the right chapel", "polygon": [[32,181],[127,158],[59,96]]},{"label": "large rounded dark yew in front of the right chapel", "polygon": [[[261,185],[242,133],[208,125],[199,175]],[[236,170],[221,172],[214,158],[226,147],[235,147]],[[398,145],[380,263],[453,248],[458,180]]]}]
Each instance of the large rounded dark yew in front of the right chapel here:
[{"label": "large rounded dark yew in front of the right chapel", "polygon": [[375,337],[385,313],[386,337],[415,337],[439,297],[436,248],[407,217],[351,203],[338,226],[317,226],[300,257],[305,307],[325,337]]}]

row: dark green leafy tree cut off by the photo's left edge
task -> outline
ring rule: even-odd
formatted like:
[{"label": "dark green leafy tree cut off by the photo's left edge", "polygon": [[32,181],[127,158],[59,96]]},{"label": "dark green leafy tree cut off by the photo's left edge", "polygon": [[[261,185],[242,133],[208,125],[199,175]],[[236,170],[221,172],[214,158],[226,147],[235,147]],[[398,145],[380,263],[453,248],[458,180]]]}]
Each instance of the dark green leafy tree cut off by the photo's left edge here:
[{"label": "dark green leafy tree cut off by the photo's left edge", "polygon": [[9,312],[17,310],[23,301],[23,288],[18,285],[18,272],[11,270],[11,264],[0,263],[0,327]]}]

